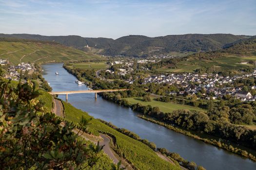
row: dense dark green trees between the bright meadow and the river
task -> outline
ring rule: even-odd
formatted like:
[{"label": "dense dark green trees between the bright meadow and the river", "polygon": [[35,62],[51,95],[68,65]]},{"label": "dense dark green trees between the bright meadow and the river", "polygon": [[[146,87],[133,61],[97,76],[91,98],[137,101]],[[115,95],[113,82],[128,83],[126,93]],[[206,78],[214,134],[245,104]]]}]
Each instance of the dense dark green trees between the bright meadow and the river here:
[{"label": "dense dark green trees between the bright meadow and the river", "polygon": [[172,113],[163,113],[160,112],[158,107],[152,107],[151,105],[144,106],[140,103],[133,104],[131,107],[133,110],[155,117],[163,122],[175,124],[187,130],[218,136],[256,149],[256,131],[229,123],[224,117],[212,120],[203,112],[189,111],[186,109],[175,110]]}]

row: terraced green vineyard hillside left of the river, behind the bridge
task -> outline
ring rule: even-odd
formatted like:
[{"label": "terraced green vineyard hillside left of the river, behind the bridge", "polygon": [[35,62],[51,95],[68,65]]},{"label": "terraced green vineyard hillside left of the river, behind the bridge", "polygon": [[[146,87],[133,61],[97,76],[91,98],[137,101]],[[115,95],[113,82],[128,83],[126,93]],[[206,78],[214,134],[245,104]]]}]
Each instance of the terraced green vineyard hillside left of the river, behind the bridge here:
[{"label": "terraced green vineyard hillside left of the river, behind the bridge", "polygon": [[64,62],[99,56],[58,44],[3,41],[0,42],[0,58],[8,59],[11,64],[17,65],[20,62]]}]

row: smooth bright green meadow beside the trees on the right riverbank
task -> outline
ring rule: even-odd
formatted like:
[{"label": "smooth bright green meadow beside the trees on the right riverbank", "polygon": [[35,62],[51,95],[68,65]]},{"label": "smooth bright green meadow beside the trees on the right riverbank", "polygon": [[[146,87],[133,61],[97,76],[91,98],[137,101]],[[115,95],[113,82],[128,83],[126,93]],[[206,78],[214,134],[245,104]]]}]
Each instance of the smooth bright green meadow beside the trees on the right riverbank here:
[{"label": "smooth bright green meadow beside the trees on the right riverbank", "polygon": [[142,105],[151,105],[152,107],[158,106],[159,109],[164,113],[169,113],[177,109],[188,109],[188,110],[197,110],[197,111],[203,111],[203,109],[198,107],[193,107],[189,105],[181,105],[174,102],[159,102],[152,100],[151,102],[144,102],[142,101],[142,98],[136,97],[136,98],[125,98],[129,103],[136,104],[141,103]]}]

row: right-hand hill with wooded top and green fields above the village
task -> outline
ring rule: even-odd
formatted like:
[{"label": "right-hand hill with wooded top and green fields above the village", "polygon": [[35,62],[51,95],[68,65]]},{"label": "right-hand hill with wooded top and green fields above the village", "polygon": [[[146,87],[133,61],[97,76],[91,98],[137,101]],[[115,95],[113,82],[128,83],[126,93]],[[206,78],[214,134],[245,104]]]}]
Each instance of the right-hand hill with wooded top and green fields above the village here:
[{"label": "right-hand hill with wooded top and green fields above the village", "polygon": [[237,74],[256,68],[256,36],[228,44],[224,49],[197,52],[179,59],[166,59],[152,68],[163,72],[199,72]]}]

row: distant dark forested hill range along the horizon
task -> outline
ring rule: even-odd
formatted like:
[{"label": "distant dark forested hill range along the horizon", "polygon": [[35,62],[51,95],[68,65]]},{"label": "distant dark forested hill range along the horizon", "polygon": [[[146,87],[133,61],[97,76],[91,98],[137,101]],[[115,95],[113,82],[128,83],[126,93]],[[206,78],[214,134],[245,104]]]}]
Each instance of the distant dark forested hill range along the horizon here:
[{"label": "distant dark forested hill range along the horizon", "polygon": [[[226,47],[227,44],[232,44],[250,36],[233,34],[184,34],[158,37],[129,35],[116,40],[112,38],[86,38],[77,35],[0,34],[0,37],[55,41],[83,51],[93,51],[110,56],[141,56],[149,53],[168,53],[171,51],[216,51]],[[86,47],[87,45],[89,48]]]}]

